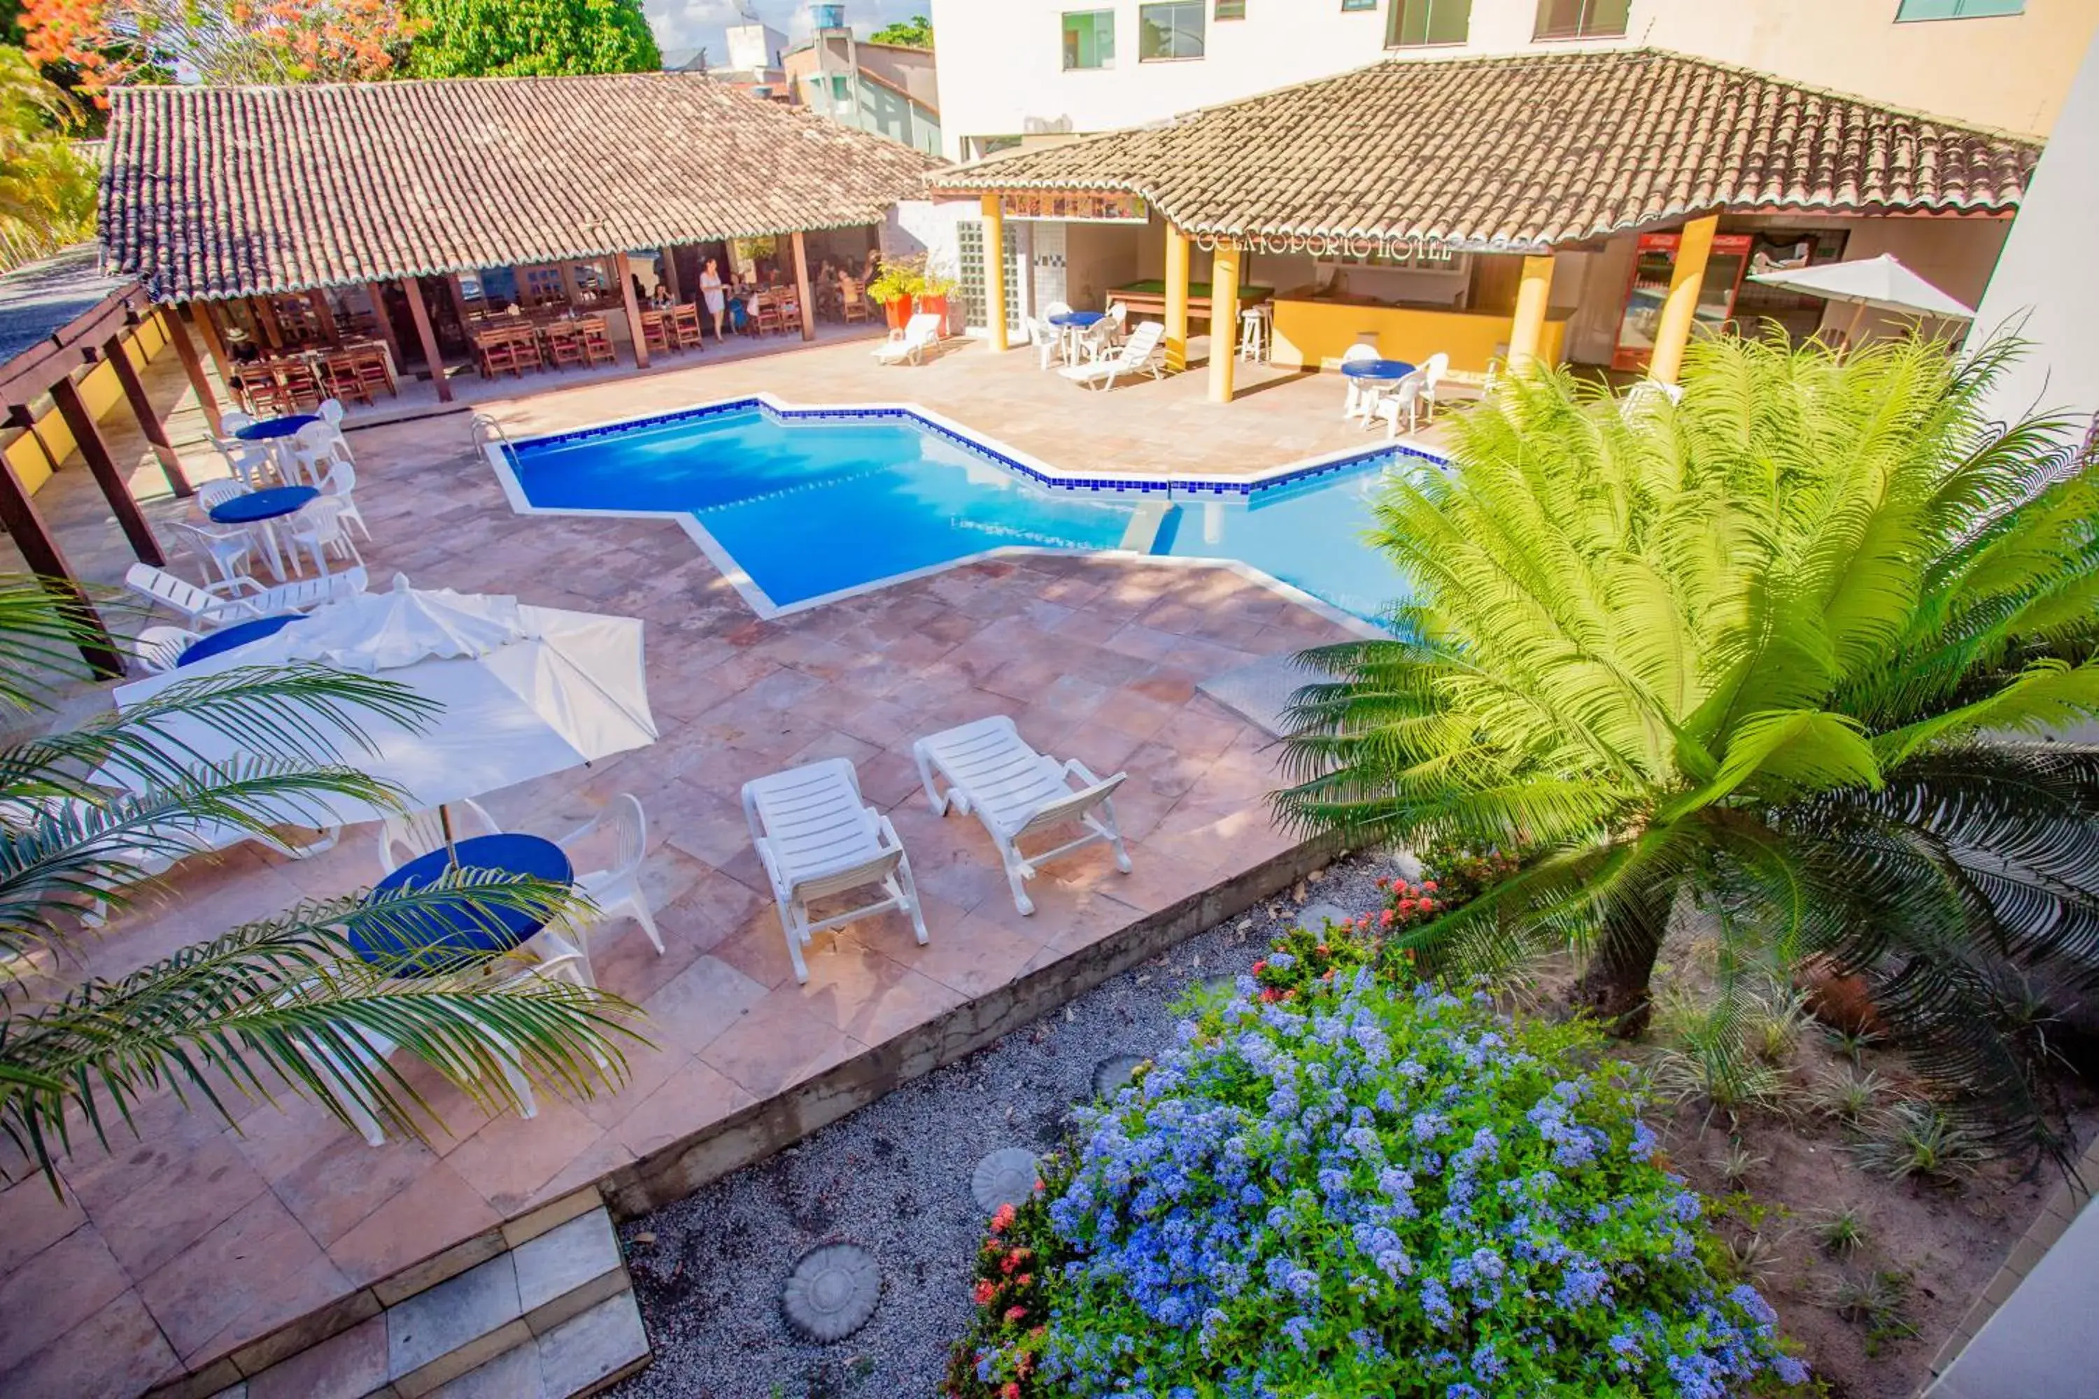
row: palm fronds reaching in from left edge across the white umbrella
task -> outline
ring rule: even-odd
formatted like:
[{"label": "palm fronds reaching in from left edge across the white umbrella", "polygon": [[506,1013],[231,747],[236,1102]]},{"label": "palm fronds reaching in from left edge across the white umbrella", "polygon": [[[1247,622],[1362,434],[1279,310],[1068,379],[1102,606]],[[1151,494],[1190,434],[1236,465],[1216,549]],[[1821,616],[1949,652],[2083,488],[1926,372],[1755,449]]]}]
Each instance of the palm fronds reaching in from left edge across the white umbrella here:
[{"label": "palm fronds reaching in from left edge across the white umbrella", "polygon": [[[40,581],[0,579],[0,707],[34,719],[84,636],[78,600]],[[71,665],[69,665],[71,661]],[[111,1118],[147,1095],[231,1120],[229,1095],[319,1101],[348,1124],[340,1078],[382,1122],[424,1135],[428,1105],[376,1040],[432,1066],[489,1110],[516,1107],[497,1055],[529,1080],[588,1095],[619,1078],[619,1040],[634,1009],[550,980],[489,990],[479,977],[403,975],[420,917],[437,904],[577,910],[560,887],[451,875],[376,902],[300,904],[229,929],[120,982],[67,975],[65,954],[145,881],[143,866],[191,856],[206,831],[267,837],[317,824],[327,797],[395,805],[395,793],[336,761],[361,724],[418,728],[434,705],[414,690],[319,667],[235,669],[176,684],[76,730],[0,745],[0,1128],[50,1177],[82,1124],[109,1145]],[[239,734],[237,768],[197,761],[183,732]],[[97,780],[126,772],[134,791]],[[397,961],[359,961],[365,946],[403,946]]]}]

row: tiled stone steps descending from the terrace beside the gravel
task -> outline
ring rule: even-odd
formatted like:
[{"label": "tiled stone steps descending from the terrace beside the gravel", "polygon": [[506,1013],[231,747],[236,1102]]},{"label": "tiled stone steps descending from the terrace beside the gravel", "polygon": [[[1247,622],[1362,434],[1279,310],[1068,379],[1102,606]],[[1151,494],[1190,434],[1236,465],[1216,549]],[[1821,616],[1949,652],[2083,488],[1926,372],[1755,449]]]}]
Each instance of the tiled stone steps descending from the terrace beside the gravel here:
[{"label": "tiled stone steps descending from the terrace beside the gravel", "polygon": [[646,1363],[634,1284],[600,1204],[214,1399],[573,1399]]}]

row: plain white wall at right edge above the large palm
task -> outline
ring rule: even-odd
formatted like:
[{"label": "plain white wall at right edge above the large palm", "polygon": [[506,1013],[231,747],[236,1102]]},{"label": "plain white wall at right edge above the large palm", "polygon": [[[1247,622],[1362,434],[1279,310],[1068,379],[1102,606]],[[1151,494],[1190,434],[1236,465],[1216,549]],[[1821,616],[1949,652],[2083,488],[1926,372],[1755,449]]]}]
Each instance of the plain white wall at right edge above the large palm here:
[{"label": "plain white wall at right edge above the large palm", "polygon": [[2084,55],[2084,67],[1975,315],[1979,336],[2011,327],[2034,342],[1996,392],[1994,411],[2000,417],[2034,409],[2099,413],[2095,214],[2099,44]]}]

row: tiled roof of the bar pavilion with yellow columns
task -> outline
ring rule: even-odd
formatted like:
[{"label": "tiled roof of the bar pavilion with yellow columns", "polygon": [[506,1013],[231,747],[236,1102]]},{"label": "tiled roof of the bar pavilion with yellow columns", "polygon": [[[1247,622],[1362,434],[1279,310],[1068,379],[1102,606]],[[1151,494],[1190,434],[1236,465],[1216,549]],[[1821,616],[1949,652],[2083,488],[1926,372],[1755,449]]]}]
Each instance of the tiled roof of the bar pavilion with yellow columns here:
[{"label": "tiled roof of the bar pavilion with yellow columns", "polygon": [[1654,48],[1387,59],[942,191],[1142,193],[1186,233],[1534,250],[1711,210],[2011,212],[2040,141]]}]

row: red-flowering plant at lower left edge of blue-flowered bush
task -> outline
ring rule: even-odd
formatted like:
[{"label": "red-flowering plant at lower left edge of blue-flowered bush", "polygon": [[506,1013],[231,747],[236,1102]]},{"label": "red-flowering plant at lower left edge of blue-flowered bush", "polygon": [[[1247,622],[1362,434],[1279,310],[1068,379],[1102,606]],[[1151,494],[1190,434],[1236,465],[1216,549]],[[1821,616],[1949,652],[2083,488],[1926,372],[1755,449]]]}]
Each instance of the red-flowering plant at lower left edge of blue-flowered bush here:
[{"label": "red-flowering plant at lower left edge of blue-flowered bush", "polygon": [[984,1246],[976,1250],[976,1279],[970,1328],[947,1361],[951,1399],[1045,1399],[1054,1391],[1041,1378],[1041,1355],[1050,1338],[1050,1275],[1073,1254],[1050,1227],[1050,1206],[1068,1177],[1052,1158],[1043,1164],[1047,1183],[1020,1206],[999,1206],[991,1217]]}]

